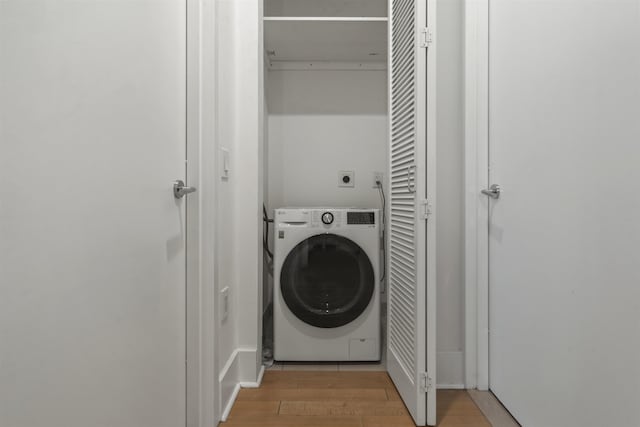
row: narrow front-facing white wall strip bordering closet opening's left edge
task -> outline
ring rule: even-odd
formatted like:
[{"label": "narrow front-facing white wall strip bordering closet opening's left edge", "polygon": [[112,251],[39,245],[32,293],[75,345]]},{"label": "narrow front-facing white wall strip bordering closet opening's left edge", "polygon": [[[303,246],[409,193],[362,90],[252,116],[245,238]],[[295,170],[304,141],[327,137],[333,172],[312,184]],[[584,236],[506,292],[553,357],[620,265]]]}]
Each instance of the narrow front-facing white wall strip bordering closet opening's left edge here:
[{"label": "narrow front-facing white wall strip bordering closet opening's left edge", "polygon": [[[243,381],[255,381],[262,364],[262,146],[263,134],[263,51],[262,1],[235,0],[236,105],[235,139],[232,156],[234,181],[234,271],[237,292],[235,316],[238,345],[253,353],[254,363],[243,366]],[[251,357],[247,356],[247,360]]]}]

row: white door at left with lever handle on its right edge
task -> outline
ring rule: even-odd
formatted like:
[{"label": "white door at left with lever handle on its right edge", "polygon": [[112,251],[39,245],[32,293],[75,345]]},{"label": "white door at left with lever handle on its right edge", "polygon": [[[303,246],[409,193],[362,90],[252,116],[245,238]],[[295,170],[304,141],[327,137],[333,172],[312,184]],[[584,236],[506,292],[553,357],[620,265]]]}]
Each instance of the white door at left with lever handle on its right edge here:
[{"label": "white door at left with lever handle on its right edge", "polygon": [[0,2],[0,425],[185,424],[185,1]]}]

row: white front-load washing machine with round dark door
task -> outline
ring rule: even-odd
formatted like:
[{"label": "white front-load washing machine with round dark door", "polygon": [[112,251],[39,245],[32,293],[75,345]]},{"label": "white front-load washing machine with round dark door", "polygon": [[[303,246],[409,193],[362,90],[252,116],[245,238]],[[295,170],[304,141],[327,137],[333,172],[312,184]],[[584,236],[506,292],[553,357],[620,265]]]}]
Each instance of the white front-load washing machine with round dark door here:
[{"label": "white front-load washing machine with round dark door", "polygon": [[380,360],[378,209],[277,209],[274,359]]}]

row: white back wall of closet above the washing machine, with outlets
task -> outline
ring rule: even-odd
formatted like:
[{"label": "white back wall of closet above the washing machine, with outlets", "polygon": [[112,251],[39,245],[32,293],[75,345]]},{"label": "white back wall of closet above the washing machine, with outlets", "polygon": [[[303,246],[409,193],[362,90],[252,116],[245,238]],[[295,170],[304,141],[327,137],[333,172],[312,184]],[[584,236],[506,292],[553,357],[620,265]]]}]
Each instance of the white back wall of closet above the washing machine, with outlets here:
[{"label": "white back wall of closet above the washing machine, with outlets", "polygon": [[[270,71],[269,208],[381,207],[387,170],[385,71]],[[338,172],[355,172],[339,187]]]}]

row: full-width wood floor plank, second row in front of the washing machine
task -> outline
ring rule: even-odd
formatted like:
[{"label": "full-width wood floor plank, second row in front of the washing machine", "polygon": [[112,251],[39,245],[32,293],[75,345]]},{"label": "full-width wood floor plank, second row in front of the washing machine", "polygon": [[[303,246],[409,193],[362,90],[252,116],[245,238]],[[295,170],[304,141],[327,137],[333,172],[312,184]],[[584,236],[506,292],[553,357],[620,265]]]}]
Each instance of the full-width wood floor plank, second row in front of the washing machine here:
[{"label": "full-width wood floor plank, second row in front of the washing machine", "polygon": [[306,388],[306,389],[242,389],[238,401],[243,400],[387,400],[383,388]]}]

